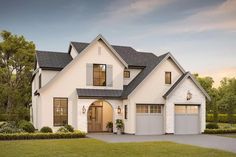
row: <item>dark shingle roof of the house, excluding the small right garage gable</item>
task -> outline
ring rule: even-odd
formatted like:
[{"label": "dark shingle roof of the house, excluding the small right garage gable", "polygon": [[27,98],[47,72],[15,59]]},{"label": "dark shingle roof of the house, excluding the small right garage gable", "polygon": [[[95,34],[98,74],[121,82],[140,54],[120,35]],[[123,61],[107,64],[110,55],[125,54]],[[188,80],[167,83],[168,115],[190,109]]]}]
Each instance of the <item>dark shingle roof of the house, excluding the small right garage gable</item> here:
[{"label": "dark shingle roof of the house, excluding the small right garage gable", "polygon": [[[89,43],[71,42],[78,53],[82,52]],[[156,56],[153,53],[138,52],[129,46],[111,45],[120,57],[129,65],[137,66],[142,71],[126,86],[123,91],[99,90],[99,89],[77,89],[79,97],[109,97],[127,98],[128,95],[148,76],[148,74],[168,55],[168,53]],[[69,53],[57,53],[48,51],[37,51],[37,61],[41,68],[63,69],[71,60]]]}]

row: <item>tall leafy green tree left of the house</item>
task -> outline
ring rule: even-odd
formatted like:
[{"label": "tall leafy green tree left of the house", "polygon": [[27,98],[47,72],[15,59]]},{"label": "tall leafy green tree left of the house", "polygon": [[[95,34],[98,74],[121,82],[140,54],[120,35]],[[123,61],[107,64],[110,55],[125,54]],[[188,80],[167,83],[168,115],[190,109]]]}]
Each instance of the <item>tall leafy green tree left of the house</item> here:
[{"label": "tall leafy green tree left of the house", "polygon": [[0,36],[0,107],[12,113],[31,102],[35,45],[8,31],[2,31]]}]

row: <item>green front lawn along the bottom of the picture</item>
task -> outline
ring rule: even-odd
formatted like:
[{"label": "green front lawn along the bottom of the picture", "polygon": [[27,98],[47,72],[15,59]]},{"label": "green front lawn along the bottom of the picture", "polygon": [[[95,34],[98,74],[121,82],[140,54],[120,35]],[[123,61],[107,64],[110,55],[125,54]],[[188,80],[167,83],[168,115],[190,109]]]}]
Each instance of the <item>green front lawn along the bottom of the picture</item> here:
[{"label": "green front lawn along the bottom of the picture", "polygon": [[105,143],[94,139],[0,141],[0,157],[235,157],[172,142]]}]

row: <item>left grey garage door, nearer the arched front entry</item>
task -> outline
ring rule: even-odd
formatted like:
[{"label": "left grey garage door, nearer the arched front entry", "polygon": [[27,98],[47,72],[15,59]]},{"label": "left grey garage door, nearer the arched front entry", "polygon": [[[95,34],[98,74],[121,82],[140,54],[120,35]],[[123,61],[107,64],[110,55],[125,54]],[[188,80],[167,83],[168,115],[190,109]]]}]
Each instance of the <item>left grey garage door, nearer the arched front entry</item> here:
[{"label": "left grey garage door, nearer the arched front entry", "polygon": [[136,105],[136,135],[163,134],[163,105]]}]

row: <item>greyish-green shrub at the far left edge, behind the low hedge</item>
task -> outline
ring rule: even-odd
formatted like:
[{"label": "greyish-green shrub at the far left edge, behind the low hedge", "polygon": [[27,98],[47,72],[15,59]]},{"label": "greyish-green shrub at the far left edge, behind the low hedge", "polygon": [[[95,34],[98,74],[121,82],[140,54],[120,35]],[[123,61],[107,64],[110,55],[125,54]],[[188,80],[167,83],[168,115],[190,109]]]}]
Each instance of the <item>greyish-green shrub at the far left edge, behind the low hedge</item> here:
[{"label": "greyish-green shrub at the far left edge, behind the low hedge", "polygon": [[19,133],[24,132],[24,130],[17,128],[15,122],[4,122],[1,124],[0,133]]}]

